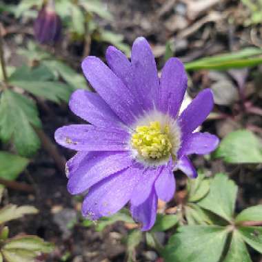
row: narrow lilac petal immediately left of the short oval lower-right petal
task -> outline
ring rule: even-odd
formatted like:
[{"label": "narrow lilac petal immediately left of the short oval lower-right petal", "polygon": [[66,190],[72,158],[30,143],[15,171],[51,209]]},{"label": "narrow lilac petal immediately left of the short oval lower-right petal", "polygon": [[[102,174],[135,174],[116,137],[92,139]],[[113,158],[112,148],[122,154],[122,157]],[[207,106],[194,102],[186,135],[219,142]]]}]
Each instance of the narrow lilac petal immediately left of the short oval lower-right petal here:
[{"label": "narrow lilac petal immediately left of the short oval lower-right petal", "polygon": [[152,188],[154,188],[154,181],[156,181],[161,170],[162,167],[157,169],[148,168],[141,173],[139,183],[137,183],[137,186],[134,188],[134,192],[130,199],[132,205],[141,205],[146,199],[148,199]]}]

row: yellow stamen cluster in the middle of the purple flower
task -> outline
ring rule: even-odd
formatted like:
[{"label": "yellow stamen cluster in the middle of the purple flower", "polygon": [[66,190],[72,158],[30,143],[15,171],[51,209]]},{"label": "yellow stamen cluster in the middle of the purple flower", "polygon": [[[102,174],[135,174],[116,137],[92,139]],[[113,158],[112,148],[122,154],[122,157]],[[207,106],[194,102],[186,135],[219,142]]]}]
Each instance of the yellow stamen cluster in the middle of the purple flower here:
[{"label": "yellow stamen cluster in the middle of the purple flower", "polygon": [[159,121],[150,122],[150,125],[140,125],[132,134],[132,148],[144,159],[168,157],[172,149],[169,132],[168,126],[161,128]]}]

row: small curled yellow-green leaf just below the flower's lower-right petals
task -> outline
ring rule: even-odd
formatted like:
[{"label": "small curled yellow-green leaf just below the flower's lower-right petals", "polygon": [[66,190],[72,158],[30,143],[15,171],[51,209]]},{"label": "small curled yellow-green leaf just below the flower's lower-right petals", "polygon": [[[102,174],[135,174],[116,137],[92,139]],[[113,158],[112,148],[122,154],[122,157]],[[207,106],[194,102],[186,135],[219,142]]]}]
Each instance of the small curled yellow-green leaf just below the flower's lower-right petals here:
[{"label": "small curled yellow-green leaf just below the flower's lower-right petals", "polygon": [[208,194],[210,190],[210,181],[205,179],[205,175],[199,172],[196,179],[188,179],[188,201],[196,202]]}]

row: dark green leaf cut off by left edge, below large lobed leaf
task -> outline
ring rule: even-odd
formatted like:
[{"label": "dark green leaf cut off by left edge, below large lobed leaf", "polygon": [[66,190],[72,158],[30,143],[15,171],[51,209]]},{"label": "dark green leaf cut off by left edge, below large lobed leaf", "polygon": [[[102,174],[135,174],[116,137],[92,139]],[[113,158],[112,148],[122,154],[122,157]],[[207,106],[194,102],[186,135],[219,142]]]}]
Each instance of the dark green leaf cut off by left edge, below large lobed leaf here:
[{"label": "dark green leaf cut off by left edge, below large lobed leaf", "polygon": [[28,163],[29,160],[24,157],[0,151],[0,177],[6,180],[17,179]]}]

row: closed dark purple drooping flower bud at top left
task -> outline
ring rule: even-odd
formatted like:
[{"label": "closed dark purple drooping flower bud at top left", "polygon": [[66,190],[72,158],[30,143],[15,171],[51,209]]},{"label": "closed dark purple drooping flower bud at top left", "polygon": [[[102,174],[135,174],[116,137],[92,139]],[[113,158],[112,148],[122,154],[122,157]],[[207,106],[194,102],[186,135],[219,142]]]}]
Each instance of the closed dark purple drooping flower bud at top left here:
[{"label": "closed dark purple drooping flower bud at top left", "polygon": [[34,22],[34,36],[39,43],[56,43],[61,37],[61,19],[50,1],[39,11]]}]

